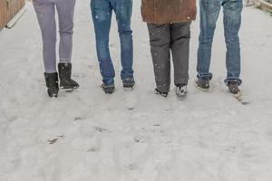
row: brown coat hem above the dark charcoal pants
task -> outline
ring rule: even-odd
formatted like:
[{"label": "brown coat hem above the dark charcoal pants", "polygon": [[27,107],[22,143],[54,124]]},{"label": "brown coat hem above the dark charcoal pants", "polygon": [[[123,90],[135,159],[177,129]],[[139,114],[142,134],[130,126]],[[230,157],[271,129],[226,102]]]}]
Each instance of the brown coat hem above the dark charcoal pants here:
[{"label": "brown coat hem above the dark charcoal pants", "polygon": [[150,24],[190,22],[196,14],[196,0],[141,0],[142,19]]}]

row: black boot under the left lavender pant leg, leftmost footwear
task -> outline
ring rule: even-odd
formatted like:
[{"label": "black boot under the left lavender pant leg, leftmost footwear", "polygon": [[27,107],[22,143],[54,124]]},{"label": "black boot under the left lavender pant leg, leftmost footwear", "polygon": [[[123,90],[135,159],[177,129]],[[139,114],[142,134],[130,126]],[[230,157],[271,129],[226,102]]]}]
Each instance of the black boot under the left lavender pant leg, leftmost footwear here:
[{"label": "black boot under the left lavender pant leg, leftmost footwear", "polygon": [[44,73],[44,78],[46,82],[47,87],[47,93],[49,97],[58,97],[58,91],[59,91],[59,79],[58,79],[58,73]]}]

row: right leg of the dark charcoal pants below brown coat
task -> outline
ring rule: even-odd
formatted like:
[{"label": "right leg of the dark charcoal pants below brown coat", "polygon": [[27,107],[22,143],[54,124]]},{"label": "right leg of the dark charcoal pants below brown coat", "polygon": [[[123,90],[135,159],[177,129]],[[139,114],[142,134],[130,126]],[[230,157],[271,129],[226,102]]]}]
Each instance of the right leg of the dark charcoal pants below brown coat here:
[{"label": "right leg of the dark charcoal pants below brown coat", "polygon": [[190,22],[170,24],[170,38],[175,85],[188,84]]}]

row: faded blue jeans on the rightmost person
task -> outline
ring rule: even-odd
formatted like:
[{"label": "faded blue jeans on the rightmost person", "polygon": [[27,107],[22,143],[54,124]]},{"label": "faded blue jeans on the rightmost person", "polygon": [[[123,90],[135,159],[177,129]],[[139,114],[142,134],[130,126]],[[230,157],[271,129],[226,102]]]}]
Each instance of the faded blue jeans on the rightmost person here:
[{"label": "faded blue jeans on the rightmost person", "polygon": [[207,80],[212,78],[209,72],[211,46],[221,6],[224,13],[225,43],[227,46],[226,66],[229,81],[242,81],[239,79],[241,60],[238,31],[241,25],[242,0],[200,0],[200,34],[198,50],[198,78]]}]

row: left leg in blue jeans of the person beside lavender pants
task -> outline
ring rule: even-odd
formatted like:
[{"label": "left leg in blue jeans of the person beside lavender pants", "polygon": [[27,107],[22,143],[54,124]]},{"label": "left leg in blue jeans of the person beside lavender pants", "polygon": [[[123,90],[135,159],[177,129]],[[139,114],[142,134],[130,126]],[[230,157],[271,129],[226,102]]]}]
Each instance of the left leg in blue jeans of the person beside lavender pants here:
[{"label": "left leg in blue jeans of the person beside lavender pants", "polygon": [[109,49],[112,5],[109,0],[92,0],[91,9],[96,38],[96,51],[102,73],[102,81],[106,85],[112,85],[114,84],[115,77]]}]

